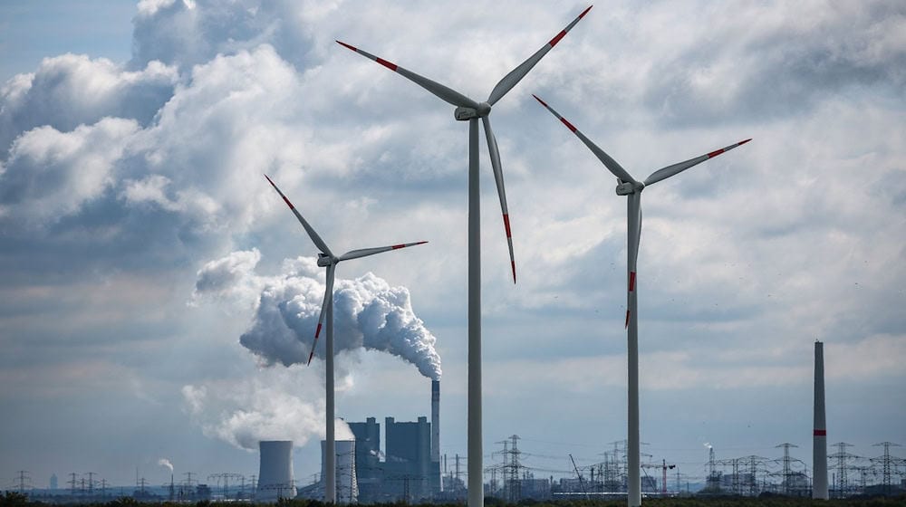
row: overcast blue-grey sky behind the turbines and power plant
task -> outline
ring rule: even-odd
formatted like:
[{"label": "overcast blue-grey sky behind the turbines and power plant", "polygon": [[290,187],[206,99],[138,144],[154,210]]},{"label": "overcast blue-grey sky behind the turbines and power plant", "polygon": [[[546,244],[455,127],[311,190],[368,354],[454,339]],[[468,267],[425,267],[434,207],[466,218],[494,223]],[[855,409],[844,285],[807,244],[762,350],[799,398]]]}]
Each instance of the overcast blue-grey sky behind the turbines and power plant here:
[{"label": "overcast blue-grey sky behind the turbines and power plant", "polygon": [[[334,252],[429,241],[338,283],[436,348],[441,453],[465,454],[467,123],[334,40],[484,100],[586,6],[0,5],[0,486],[256,474],[259,438],[311,480],[323,361],[248,344],[311,340],[323,273],[263,173]],[[626,208],[532,93],[640,179],[754,139],[644,193],[651,460],[789,442],[810,466],[814,340],[828,443],[906,445],[906,5],[597,4],[496,104],[518,283],[483,146],[485,463],[517,434],[547,476],[626,435]],[[337,415],[429,415],[417,360],[360,334]]]}]

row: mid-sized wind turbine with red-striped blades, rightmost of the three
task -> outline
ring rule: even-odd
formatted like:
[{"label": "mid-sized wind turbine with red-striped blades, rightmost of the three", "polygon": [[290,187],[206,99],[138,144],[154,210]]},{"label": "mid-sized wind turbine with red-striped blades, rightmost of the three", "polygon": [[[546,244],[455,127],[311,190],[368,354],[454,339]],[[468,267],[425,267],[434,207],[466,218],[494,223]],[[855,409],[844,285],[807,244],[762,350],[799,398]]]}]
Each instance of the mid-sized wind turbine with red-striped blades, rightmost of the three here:
[{"label": "mid-sized wind turbine with red-striped blades, rightmost of the three", "polygon": [[535,100],[541,102],[547,110],[551,111],[558,120],[562,121],[567,129],[573,131],[577,138],[581,139],[585,146],[592,150],[594,156],[602,161],[604,167],[611,171],[613,176],[617,177],[617,196],[627,196],[627,229],[629,236],[627,241],[627,262],[626,272],[628,279],[627,303],[626,303],[626,328],[628,330],[628,349],[629,349],[629,495],[628,500],[631,507],[641,505],[641,461],[639,448],[639,314],[638,292],[636,291],[636,262],[639,259],[639,240],[641,237],[641,191],[645,187],[657,183],[662,179],[675,176],[689,167],[696,166],[709,158],[715,158],[721,153],[725,153],[737,146],[746,144],[752,139],[739,141],[731,144],[727,148],[716,149],[700,157],[689,158],[685,162],[679,162],[667,167],[660,168],[645,181],[637,181],[631,177],[626,169],[622,168],[610,155],[604,153],[604,150],[598,148],[590,139],[576,129],[569,120],[560,116],[560,113],[548,106],[544,100],[532,95]]}]

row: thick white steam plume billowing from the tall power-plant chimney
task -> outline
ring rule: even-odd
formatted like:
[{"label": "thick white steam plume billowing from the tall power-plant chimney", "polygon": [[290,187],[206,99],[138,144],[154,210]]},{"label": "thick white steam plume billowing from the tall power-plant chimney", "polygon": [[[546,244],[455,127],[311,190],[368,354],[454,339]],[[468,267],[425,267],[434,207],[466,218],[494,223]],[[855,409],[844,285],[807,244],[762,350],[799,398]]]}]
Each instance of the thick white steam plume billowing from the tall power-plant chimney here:
[{"label": "thick white steam plume billowing from the tall power-plant chimney", "polygon": [[[233,252],[198,271],[193,301],[205,297],[239,298],[257,294],[252,324],[239,341],[264,359],[291,366],[303,364],[312,346],[324,293],[323,268],[313,258],[284,261],[279,276],[255,274],[257,250]],[[409,290],[391,287],[366,273],[337,279],[333,290],[334,349],[372,349],[409,361],[425,377],[439,380],[437,339],[412,311]],[[323,345],[315,350],[323,356]]]}]

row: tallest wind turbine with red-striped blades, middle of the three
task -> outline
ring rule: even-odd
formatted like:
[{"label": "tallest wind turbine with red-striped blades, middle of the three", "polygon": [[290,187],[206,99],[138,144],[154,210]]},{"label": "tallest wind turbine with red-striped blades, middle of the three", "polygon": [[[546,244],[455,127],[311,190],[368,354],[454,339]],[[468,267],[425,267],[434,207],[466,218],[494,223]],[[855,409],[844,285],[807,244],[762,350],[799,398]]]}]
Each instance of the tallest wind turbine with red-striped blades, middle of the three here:
[{"label": "tallest wind turbine with red-striped blades, middle of the three", "polygon": [[513,256],[513,234],[510,231],[509,212],[506,208],[506,191],[504,174],[500,166],[500,153],[497,141],[488,119],[491,107],[503,98],[507,91],[513,89],[537,62],[559,43],[579,20],[588,14],[589,5],[573,22],[557,33],[553,39],[530,56],[516,69],[510,71],[497,82],[491,94],[484,102],[477,102],[466,95],[455,91],[437,81],[431,81],[415,72],[388,62],[381,57],[362,51],[347,43],[337,41],[343,47],[380,63],[393,72],[418,84],[440,100],[456,106],[453,117],[458,121],[468,120],[468,504],[472,507],[484,505],[484,484],[482,483],[483,459],[481,443],[481,239],[480,239],[480,206],[478,199],[478,120],[485,129],[487,151],[491,158],[491,168],[500,199],[500,210],[503,213],[506,244],[509,247],[510,266],[513,270],[513,282],[516,283],[516,259]]}]

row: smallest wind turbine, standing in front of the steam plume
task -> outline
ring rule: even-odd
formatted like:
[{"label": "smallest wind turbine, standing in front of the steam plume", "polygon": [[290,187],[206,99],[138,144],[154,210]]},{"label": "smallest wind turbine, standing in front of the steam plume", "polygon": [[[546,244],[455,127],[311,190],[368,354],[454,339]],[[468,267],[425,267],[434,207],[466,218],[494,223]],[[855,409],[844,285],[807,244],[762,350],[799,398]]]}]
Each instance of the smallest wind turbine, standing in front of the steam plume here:
[{"label": "smallest wind turbine, standing in front of the steam plume", "polygon": [[333,487],[333,484],[336,484],[336,438],[334,435],[334,404],[333,404],[333,276],[336,273],[336,266],[342,261],[349,261],[350,259],[358,259],[359,257],[367,257],[369,255],[374,255],[375,253],[390,252],[390,250],[399,250],[400,248],[406,248],[407,246],[414,246],[416,244],[426,244],[427,241],[419,241],[418,243],[404,243],[404,244],[394,244],[391,246],[379,246],[377,248],[362,248],[361,250],[351,250],[347,253],[343,253],[339,257],[331,252],[331,249],[327,247],[327,244],[324,243],[324,240],[321,239],[321,236],[316,233],[308,222],[305,221],[302,214],[299,213],[293,203],[289,202],[289,199],[284,196],[284,193],[280,191],[271,178],[265,175],[267,181],[271,184],[271,187],[277,191],[277,194],[280,194],[283,197],[286,206],[293,211],[293,215],[299,219],[299,223],[305,229],[305,232],[308,233],[308,237],[312,238],[312,243],[318,247],[318,250],[321,252],[318,253],[318,265],[327,268],[327,287],[324,290],[324,302],[321,305],[321,315],[318,317],[318,327],[314,331],[314,340],[312,342],[312,351],[308,354],[308,364],[312,364],[312,358],[314,357],[314,347],[318,344],[318,335],[321,334],[321,325],[324,323],[324,320],[327,320],[326,324],[326,343],[324,347],[324,362],[326,363],[326,379],[325,379],[325,388],[327,391],[327,435],[326,435],[326,445],[324,449],[324,502],[334,503],[336,502],[336,488]]}]

